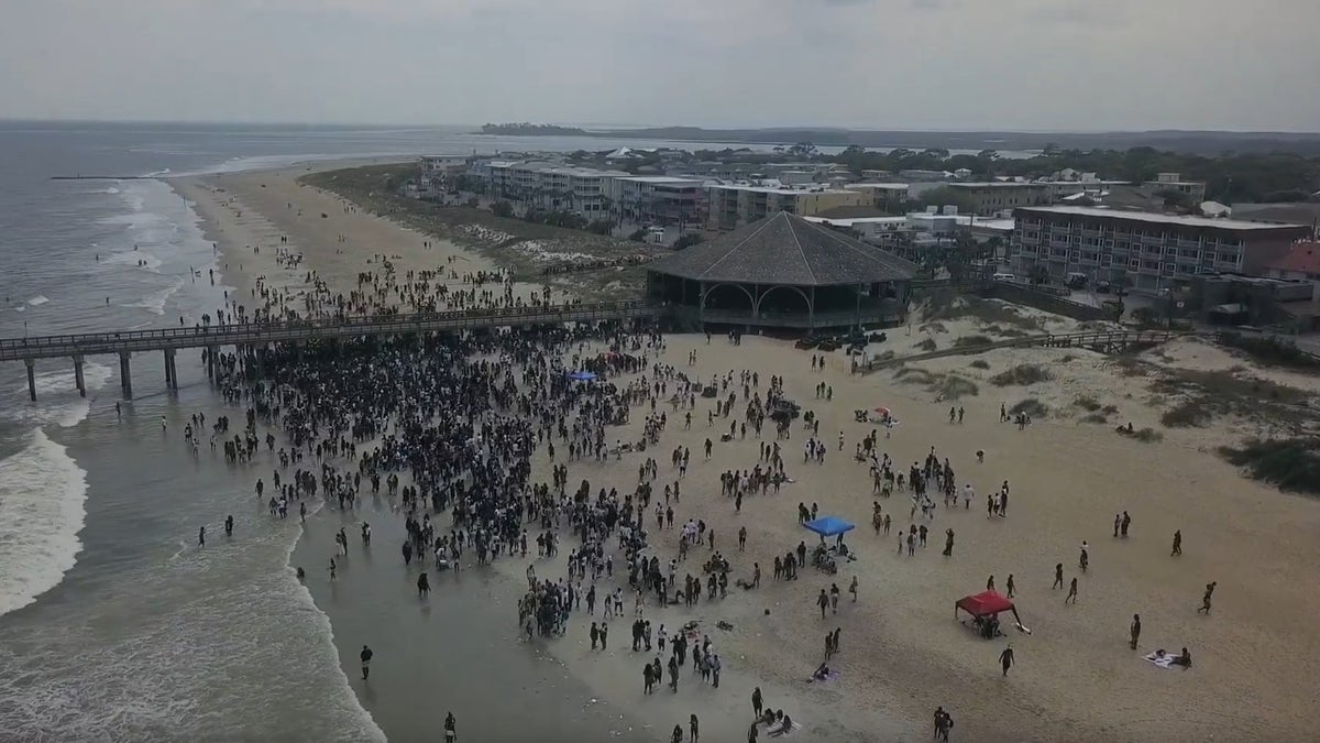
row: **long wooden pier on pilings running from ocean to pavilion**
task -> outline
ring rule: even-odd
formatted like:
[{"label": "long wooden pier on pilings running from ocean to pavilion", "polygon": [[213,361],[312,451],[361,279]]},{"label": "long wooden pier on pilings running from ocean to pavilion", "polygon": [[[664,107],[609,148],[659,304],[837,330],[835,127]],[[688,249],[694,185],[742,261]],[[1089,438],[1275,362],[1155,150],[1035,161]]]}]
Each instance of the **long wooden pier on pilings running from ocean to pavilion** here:
[{"label": "long wooden pier on pilings running from ocean to pavilion", "polygon": [[71,358],[74,385],[87,395],[83,360],[88,356],[119,356],[119,383],[124,399],[133,398],[132,354],[161,352],[165,357],[165,385],[178,389],[174,356],[181,348],[205,348],[207,377],[215,377],[215,360],[223,346],[256,348],[273,342],[302,342],[317,338],[351,338],[362,336],[399,336],[478,328],[531,327],[556,323],[595,323],[602,320],[651,319],[659,308],[644,301],[568,304],[557,307],[517,307],[508,309],[475,309],[469,312],[422,312],[348,317],[343,320],[296,320],[280,323],[244,323],[198,328],[165,328],[158,331],[123,331],[111,333],[78,333],[70,336],[33,336],[0,338],[0,361],[22,361],[28,366],[28,394],[37,399],[36,364],[38,358]]}]

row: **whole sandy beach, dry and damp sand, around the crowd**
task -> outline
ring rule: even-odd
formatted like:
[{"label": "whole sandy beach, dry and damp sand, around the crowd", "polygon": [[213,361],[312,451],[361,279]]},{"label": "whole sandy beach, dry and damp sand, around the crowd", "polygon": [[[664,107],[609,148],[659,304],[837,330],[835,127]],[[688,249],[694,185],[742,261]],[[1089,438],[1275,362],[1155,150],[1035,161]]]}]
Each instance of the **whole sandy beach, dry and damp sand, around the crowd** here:
[{"label": "whole sandy beach, dry and damp sand, around the crowd", "polygon": [[[207,235],[223,253],[223,280],[240,297],[252,297],[253,305],[259,303],[259,279],[296,293],[308,291],[308,271],[331,291],[348,292],[359,272],[379,268],[378,255],[389,256],[397,271],[499,268],[451,242],[346,210],[334,194],[298,185],[296,178],[308,168],[329,167],[345,164],[172,184],[197,204]],[[281,243],[281,237],[288,243]],[[277,247],[300,251],[304,263],[296,268],[279,264]],[[541,287],[520,284],[516,290],[519,296],[533,296]],[[916,312],[911,328],[891,329],[890,340],[871,346],[873,353],[902,357],[917,353],[927,341],[946,348],[966,336],[1077,328],[1071,320],[1034,311],[1001,307],[987,320],[985,313],[960,315],[960,307],[954,300]],[[824,370],[813,372],[813,352],[796,350],[785,341],[744,337],[734,346],[719,336],[709,342],[704,336],[669,336],[667,342],[663,361],[704,381],[730,372],[737,378],[743,369],[763,378],[783,375],[787,397],[820,419],[818,438],[829,450],[824,464],[804,463],[809,432],[801,419],[796,420],[792,439],[780,442],[795,481],[777,494],[748,497],[735,513],[733,501],[719,494],[719,475],[754,467],[762,440],[748,431],[746,439],[722,443],[719,432],[727,430],[729,420],[708,426],[713,401],[698,399],[690,431],[682,430],[682,411],[667,411],[669,424],[655,450],[626,453],[619,461],[570,465],[573,483],[586,479],[593,489],[631,492],[638,467],[655,457],[660,467],[656,487],[663,490],[677,480],[668,455],[676,447],[692,450],[676,521],[704,520],[715,531],[717,549],[733,562],[735,576],[750,576],[752,562],[759,562],[764,579],[755,591],[730,587],[727,599],[690,609],[647,607],[645,616],[671,632],[698,620],[698,632],[711,637],[723,658],[719,689],[701,686],[688,672],[678,694],[643,697],[642,662],[649,656],[627,648],[628,619],[611,625],[607,653],[590,650],[590,620],[581,615],[573,616],[565,637],[520,639],[516,600],[525,588],[521,576],[528,561],[502,558],[494,570],[473,567],[436,580],[433,602],[453,598],[480,603],[479,608],[455,611],[445,604],[418,609],[411,580],[396,562],[400,539],[391,529],[401,533],[401,518],[389,513],[388,504],[368,504],[363,510],[363,518],[371,518],[376,529],[379,557],[360,568],[350,561],[341,579],[329,584],[321,566],[334,554],[330,534],[342,518],[351,517],[327,509],[309,520],[293,561],[308,567],[309,590],[331,620],[350,678],[356,678],[356,646],[363,635],[370,635],[375,646],[388,648],[380,652],[372,676],[376,690],[367,694],[355,687],[392,739],[434,734],[445,710],[463,705],[454,711],[459,730],[470,731],[466,738],[496,740],[527,724],[502,717],[500,706],[531,699],[527,714],[537,718],[573,710],[562,715],[565,727],[556,728],[562,738],[548,739],[572,739],[569,735],[578,731],[594,730],[601,739],[667,740],[673,724],[682,723],[686,730],[688,715],[697,714],[706,739],[743,740],[755,686],[762,687],[768,706],[789,710],[803,724],[792,738],[809,740],[925,739],[936,706],[953,714],[957,740],[1313,736],[1320,723],[1312,703],[1320,693],[1320,631],[1313,619],[1320,598],[1309,587],[1320,570],[1320,550],[1315,547],[1320,504],[1253,483],[1214,453],[1221,444],[1278,432],[1288,423],[1253,416],[1245,403],[1241,410],[1225,410],[1208,426],[1170,427],[1162,422],[1171,407],[1200,394],[1191,382],[1180,386],[1170,381],[1188,370],[1216,373],[1221,381],[1232,377],[1258,390],[1265,389],[1262,383],[1298,390],[1302,402],[1294,407],[1303,412],[1320,393],[1315,377],[1262,370],[1200,341],[1179,341],[1131,358],[1080,349],[997,350],[871,375],[849,374],[842,354],[830,354]],[[697,362],[688,366],[692,350]],[[995,382],[1023,365],[1043,370],[1034,377],[1040,381]],[[950,383],[950,375],[962,382]],[[814,389],[821,382],[832,387],[830,401],[817,398]],[[961,397],[950,401],[950,393]],[[1250,387],[1243,397],[1249,394]],[[1044,410],[1026,430],[999,422],[1001,405],[1027,399]],[[855,422],[853,411],[876,406],[891,409],[900,419],[891,438],[883,432],[879,438],[879,451],[894,459],[898,471],[921,461],[935,447],[940,459],[949,459],[960,485],[970,483],[978,496],[970,509],[937,508],[933,520],[924,522],[932,533],[929,546],[911,558],[899,554],[896,534],[919,521],[920,513],[909,516],[907,492],[887,500],[873,494],[867,465],[853,457],[857,443],[874,428]],[[950,406],[965,409],[962,423],[949,423]],[[1107,406],[1114,410],[1105,412]],[[1309,410],[1315,416],[1315,409]],[[640,409],[635,412],[616,438],[642,438],[644,415]],[[1117,435],[1114,427],[1129,422],[1135,430],[1158,432],[1159,440]],[[843,447],[837,451],[841,434]],[[708,438],[714,442],[709,461],[701,453]],[[766,428],[763,440],[774,440],[772,427]],[[985,451],[983,464],[977,463],[978,450]],[[533,481],[549,479],[544,447],[533,467]],[[987,518],[985,496],[1005,480],[1011,485],[1008,514]],[[939,502],[939,496],[935,500]],[[892,516],[895,534],[876,535],[870,528],[874,501]],[[822,516],[857,524],[846,541],[858,559],[833,576],[803,568],[800,580],[775,582],[775,555],[816,539],[797,525],[800,502],[817,505]],[[1113,538],[1114,516],[1125,510],[1131,514],[1131,535]],[[350,534],[351,524],[345,522]],[[746,553],[737,550],[737,531],[743,526],[748,533]],[[945,529],[956,531],[950,558],[940,554]],[[1176,558],[1170,555],[1175,530],[1184,539],[1183,555]],[[652,546],[668,558],[677,553],[677,529],[656,531]],[[1089,543],[1090,555],[1085,574],[1077,570],[1082,541]],[[698,571],[700,563],[693,563],[706,554],[705,547],[697,549],[686,570]],[[1051,588],[1056,563],[1064,565],[1068,579],[1078,579],[1074,606],[1064,604],[1065,591]],[[564,571],[562,559],[539,562],[536,570],[557,576]],[[490,575],[480,575],[483,571]],[[1010,628],[1007,637],[982,640],[954,619],[953,604],[982,591],[991,575],[1002,590],[1010,574],[1016,583],[1018,611],[1031,633]],[[391,575],[397,584],[388,583]],[[859,580],[857,603],[846,594],[854,575]],[[618,571],[615,582],[626,586]],[[1197,613],[1203,587],[1210,582],[1217,582],[1213,612]],[[822,620],[814,598],[832,583],[845,594],[837,615]],[[428,616],[429,611],[434,616]],[[1137,650],[1127,646],[1134,613],[1143,623]],[[718,629],[717,621],[727,621],[733,629]],[[500,624],[487,627],[492,623]],[[465,628],[479,639],[475,648],[463,646],[469,643]],[[830,666],[840,676],[807,684],[824,658],[824,635],[836,628],[842,631],[841,653]],[[1012,643],[1018,665],[1002,677],[997,658],[1007,643]],[[1176,653],[1183,646],[1195,657],[1188,670],[1160,669],[1142,657],[1156,648]],[[506,699],[473,695],[451,703],[429,691],[440,678],[487,672],[504,686],[515,684],[483,668],[499,664],[506,652],[546,670],[508,689]],[[405,661],[404,656],[411,657]],[[392,666],[405,662],[401,681],[384,681]],[[545,691],[550,687],[557,694]],[[483,702],[488,706],[473,709]],[[611,721],[619,721],[622,730],[606,727]]]}]

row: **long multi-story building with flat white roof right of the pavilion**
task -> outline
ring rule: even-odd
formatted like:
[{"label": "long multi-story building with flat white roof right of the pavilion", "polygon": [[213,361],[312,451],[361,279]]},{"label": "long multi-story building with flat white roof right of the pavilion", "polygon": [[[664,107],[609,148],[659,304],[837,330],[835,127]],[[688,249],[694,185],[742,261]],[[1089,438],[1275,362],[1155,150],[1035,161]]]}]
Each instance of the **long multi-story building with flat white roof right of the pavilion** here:
[{"label": "long multi-story building with flat white roof right of the pavilion", "polygon": [[1287,255],[1307,225],[1210,219],[1094,206],[1014,210],[1008,264],[1019,276],[1044,266],[1055,280],[1085,274],[1093,280],[1126,276],[1133,288],[1185,286],[1197,274],[1261,276]]}]

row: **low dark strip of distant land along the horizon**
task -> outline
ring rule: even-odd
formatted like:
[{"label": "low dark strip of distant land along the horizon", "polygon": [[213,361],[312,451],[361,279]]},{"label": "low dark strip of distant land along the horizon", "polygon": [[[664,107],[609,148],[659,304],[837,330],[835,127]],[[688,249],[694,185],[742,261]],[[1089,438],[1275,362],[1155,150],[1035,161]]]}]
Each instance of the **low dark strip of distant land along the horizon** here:
[{"label": "low dark strip of distant land along the horizon", "polygon": [[606,139],[714,141],[741,144],[796,144],[817,147],[902,147],[946,149],[1131,149],[1152,147],[1168,152],[1220,155],[1224,152],[1320,153],[1320,134],[1232,132],[1232,131],[1129,131],[1129,132],[940,132],[880,131],[841,128],[747,128],[706,130],[701,127],[647,127],[635,130],[583,130],[550,124],[486,124],[480,134],[504,136],[593,136]]}]

